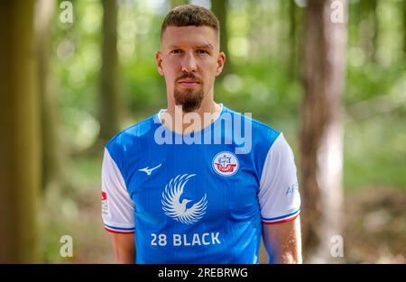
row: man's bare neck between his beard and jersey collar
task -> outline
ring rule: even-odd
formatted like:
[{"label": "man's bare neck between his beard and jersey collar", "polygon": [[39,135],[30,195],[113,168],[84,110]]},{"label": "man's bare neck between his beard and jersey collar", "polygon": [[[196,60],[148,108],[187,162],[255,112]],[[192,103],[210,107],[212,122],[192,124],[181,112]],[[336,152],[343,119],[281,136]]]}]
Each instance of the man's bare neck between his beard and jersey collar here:
[{"label": "man's bare neck between his beard and jersey collar", "polygon": [[202,101],[197,110],[189,113],[183,112],[180,106],[168,105],[165,114],[171,116],[172,123],[166,123],[165,118],[163,118],[163,123],[171,131],[180,134],[201,131],[217,119],[222,109],[222,106],[213,100],[204,102],[206,101]]}]

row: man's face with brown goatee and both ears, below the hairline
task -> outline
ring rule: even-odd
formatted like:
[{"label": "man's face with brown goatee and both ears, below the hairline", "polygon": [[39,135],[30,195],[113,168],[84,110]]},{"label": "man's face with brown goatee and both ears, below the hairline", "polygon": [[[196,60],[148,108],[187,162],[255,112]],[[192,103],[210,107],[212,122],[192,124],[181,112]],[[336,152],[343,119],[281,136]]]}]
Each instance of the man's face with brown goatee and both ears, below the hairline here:
[{"label": "man's face with brown goatee and both ears, below the hairline", "polygon": [[[165,77],[169,98],[189,113],[212,94],[226,56],[219,52],[217,32],[208,26],[168,26],[156,53],[158,71]],[[172,94],[172,95],[171,95]]]}]

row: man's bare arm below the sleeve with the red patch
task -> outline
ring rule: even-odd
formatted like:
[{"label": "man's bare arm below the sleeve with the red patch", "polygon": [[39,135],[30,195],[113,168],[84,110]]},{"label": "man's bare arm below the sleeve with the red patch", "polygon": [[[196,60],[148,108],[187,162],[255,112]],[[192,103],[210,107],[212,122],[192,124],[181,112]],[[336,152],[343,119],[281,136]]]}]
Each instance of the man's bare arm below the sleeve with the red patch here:
[{"label": "man's bare arm below the sleeve with the red patch", "polygon": [[115,251],[115,261],[117,263],[135,262],[135,242],[134,233],[122,234],[109,232]]}]

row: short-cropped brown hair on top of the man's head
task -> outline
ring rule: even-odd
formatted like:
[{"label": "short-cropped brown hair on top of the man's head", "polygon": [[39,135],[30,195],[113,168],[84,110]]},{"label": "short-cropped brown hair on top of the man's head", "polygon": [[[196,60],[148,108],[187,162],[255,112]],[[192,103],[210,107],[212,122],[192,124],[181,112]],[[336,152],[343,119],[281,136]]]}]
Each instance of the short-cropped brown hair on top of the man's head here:
[{"label": "short-cropped brown hair on top of the man's head", "polygon": [[220,24],[217,16],[205,7],[198,5],[179,5],[166,15],[161,26],[161,38],[168,26],[208,26],[217,34],[220,32]]}]

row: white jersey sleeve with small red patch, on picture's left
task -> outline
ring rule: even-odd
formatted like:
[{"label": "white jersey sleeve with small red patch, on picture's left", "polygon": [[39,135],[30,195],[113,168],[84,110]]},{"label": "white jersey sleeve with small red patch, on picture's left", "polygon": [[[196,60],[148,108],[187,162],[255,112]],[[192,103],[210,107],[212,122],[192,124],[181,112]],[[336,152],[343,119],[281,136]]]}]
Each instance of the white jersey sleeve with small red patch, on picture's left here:
[{"label": "white jersey sleeve with small red patch, on picture's left", "polygon": [[106,231],[134,232],[134,201],[125,186],[124,177],[115,160],[105,149],[102,165],[102,217]]}]

